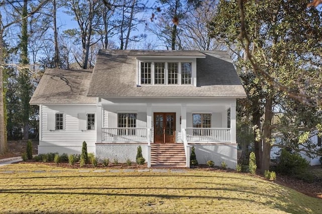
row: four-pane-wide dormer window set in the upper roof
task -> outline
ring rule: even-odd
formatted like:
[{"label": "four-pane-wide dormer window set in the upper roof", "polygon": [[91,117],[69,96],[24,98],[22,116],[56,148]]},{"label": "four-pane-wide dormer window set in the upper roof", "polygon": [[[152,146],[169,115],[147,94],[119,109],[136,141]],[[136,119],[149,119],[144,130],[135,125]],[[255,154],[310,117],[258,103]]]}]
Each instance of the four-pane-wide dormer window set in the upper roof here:
[{"label": "four-pane-wide dormer window set in the upper roof", "polygon": [[142,85],[191,85],[193,61],[139,62],[139,84]]}]

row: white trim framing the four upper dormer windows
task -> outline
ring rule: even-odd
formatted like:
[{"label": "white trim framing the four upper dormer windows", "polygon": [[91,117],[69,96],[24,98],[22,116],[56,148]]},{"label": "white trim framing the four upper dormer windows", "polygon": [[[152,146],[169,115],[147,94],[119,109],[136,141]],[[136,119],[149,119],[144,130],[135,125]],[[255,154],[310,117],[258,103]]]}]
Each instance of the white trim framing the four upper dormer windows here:
[{"label": "white trim framing the four upper dormer windows", "polygon": [[[137,82],[136,84],[141,85],[153,85],[153,86],[197,86],[197,60],[188,59],[188,60],[136,60],[136,73],[137,73]],[[150,62],[151,63],[151,84],[142,84],[141,83],[141,62]],[[165,63],[165,84],[155,84],[154,83],[154,62],[164,62]],[[177,62],[178,63],[178,84],[168,84],[168,63]],[[191,63],[191,84],[181,84],[181,63]]]}]

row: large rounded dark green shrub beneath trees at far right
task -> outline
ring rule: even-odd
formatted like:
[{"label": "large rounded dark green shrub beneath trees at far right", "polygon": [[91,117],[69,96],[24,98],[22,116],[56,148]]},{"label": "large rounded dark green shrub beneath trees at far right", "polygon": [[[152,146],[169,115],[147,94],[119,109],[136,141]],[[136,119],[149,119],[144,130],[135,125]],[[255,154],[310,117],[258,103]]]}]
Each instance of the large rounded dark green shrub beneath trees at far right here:
[{"label": "large rounded dark green shrub beneath trees at far right", "polygon": [[286,149],[281,150],[279,161],[276,165],[276,171],[281,174],[300,175],[308,169],[308,161],[297,153],[290,153]]}]

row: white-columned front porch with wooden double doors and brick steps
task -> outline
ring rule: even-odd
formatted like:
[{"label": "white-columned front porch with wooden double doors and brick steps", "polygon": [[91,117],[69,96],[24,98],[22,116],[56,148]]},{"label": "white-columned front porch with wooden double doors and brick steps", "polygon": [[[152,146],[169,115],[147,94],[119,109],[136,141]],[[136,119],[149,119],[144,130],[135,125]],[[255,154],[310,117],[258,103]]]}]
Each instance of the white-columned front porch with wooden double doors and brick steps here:
[{"label": "white-columned front porch with wooden double doors and brick steps", "polygon": [[[118,157],[120,162],[135,161],[136,149],[141,146],[148,167],[166,167],[165,160],[176,156],[185,157],[180,159],[185,162],[181,167],[190,167],[190,150],[194,146],[199,163],[213,160],[220,165],[226,161],[228,167],[234,168],[235,103],[232,98],[99,100],[96,153],[99,157]],[[168,156],[161,157],[163,153]]]}]

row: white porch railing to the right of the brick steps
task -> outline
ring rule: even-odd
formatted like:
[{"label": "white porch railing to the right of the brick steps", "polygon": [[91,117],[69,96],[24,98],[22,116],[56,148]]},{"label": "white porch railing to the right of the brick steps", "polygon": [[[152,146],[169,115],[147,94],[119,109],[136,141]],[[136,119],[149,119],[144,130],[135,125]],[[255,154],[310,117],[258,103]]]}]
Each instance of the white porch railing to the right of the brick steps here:
[{"label": "white porch railing to the right of the brick steps", "polygon": [[188,142],[230,142],[230,128],[187,128]]}]

